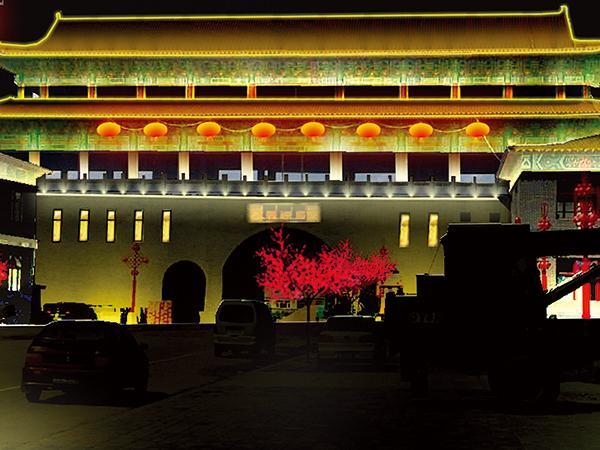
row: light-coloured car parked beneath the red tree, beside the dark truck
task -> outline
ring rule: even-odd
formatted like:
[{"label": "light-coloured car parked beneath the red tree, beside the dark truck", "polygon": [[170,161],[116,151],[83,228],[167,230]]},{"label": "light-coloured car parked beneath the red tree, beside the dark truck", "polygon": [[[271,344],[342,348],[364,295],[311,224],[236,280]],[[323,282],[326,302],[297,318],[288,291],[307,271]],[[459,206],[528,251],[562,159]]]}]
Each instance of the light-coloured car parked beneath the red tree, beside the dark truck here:
[{"label": "light-coloured car parked beneath the red tree, beside the dark truck", "polygon": [[379,325],[371,316],[329,317],[319,334],[319,363],[382,363],[385,346]]}]

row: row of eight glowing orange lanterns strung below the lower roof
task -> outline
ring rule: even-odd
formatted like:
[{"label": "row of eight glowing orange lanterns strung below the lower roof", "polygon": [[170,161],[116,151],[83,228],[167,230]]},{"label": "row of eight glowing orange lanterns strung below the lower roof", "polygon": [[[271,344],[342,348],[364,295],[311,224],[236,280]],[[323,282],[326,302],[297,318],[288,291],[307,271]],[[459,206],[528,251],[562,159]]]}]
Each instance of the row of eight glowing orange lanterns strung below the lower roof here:
[{"label": "row of eight glowing orange lanterns strung below the lower roof", "polygon": [[[464,130],[465,133],[467,134],[467,136],[470,136],[473,138],[483,138],[483,137],[487,136],[491,131],[489,125],[487,125],[486,123],[483,123],[483,122],[479,122],[479,121],[472,122],[469,125],[467,125],[466,127],[460,128],[458,130],[435,130],[431,125],[429,125],[428,123],[424,123],[424,122],[415,123],[411,126],[395,127],[395,126],[391,126],[391,125],[383,125],[383,127],[397,128],[397,129],[398,128],[408,128],[408,133],[412,137],[417,138],[417,139],[428,138],[433,134],[434,131],[451,133],[451,132],[459,132],[459,131]],[[345,127],[343,127],[343,128],[345,128]],[[370,138],[379,136],[381,134],[381,128],[382,128],[382,126],[380,126],[376,123],[365,122],[365,123],[358,125],[358,127],[356,128],[356,134],[362,138],[370,139]],[[300,132],[308,138],[317,138],[317,137],[321,137],[325,134],[326,125],[323,125],[320,122],[307,122],[298,128],[293,128],[292,130],[300,130]],[[292,131],[292,130],[285,129],[284,131]],[[102,137],[118,136],[119,134],[121,134],[121,131],[122,131],[121,125],[119,125],[116,122],[104,122],[104,123],[101,123],[100,125],[98,125],[98,127],[96,128],[96,132],[98,133],[98,135],[100,135]],[[196,127],[196,132],[200,136],[207,137],[207,138],[218,136],[219,134],[221,134],[222,131],[223,131],[223,128],[221,127],[221,125],[219,125],[217,122],[212,122],[212,121],[202,122],[202,123],[198,124],[198,126]],[[236,131],[236,132],[251,131],[253,136],[255,136],[257,138],[261,138],[261,139],[266,139],[266,138],[273,136],[277,132],[277,128],[275,127],[275,125],[273,125],[269,122],[260,122],[260,123],[257,123],[256,125],[254,125],[249,130],[246,129],[246,130],[228,130],[228,131]],[[143,128],[143,133],[146,136],[152,137],[152,138],[166,136],[168,134],[168,132],[169,132],[169,129],[168,129],[167,125],[165,125],[162,122],[151,122]]]}]

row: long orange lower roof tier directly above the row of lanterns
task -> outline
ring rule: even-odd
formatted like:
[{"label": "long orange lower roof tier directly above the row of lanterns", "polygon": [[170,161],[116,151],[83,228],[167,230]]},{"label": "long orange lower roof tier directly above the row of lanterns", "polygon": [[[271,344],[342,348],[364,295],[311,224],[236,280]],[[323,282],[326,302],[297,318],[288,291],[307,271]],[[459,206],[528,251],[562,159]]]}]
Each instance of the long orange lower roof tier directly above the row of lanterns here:
[{"label": "long orange lower roof tier directly above the row of lanterns", "polygon": [[600,118],[599,100],[5,99],[0,118]]}]

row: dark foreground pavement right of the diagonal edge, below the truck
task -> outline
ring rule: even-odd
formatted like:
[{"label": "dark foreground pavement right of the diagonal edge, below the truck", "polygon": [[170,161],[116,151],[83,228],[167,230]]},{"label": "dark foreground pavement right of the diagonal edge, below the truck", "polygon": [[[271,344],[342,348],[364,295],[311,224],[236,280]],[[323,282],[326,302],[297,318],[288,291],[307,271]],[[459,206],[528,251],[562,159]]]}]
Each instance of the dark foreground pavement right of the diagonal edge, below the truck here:
[{"label": "dark foreground pavement right of the diagonal edge, below the truck", "polygon": [[318,370],[298,356],[12,448],[600,449],[599,386],[506,409],[484,378],[435,372],[415,398],[396,369]]}]

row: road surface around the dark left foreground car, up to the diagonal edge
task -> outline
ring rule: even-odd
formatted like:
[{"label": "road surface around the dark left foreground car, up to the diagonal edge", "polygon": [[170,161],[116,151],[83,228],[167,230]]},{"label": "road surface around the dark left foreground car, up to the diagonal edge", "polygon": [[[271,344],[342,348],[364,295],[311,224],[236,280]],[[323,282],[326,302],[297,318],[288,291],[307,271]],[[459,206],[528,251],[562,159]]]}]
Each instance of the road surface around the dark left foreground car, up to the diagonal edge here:
[{"label": "road surface around the dark left foreground car, up to the diagonal edge", "polygon": [[[120,417],[143,404],[157,402],[270,362],[244,357],[214,357],[209,328],[163,332],[148,330],[135,334],[139,342],[148,344],[151,361],[149,394],[142,401],[132,392],[125,392],[121,398],[109,402],[93,396],[46,392],[41,402],[29,403],[19,385],[30,339],[0,339],[0,449],[12,450],[24,443],[29,443],[32,448],[44,448],[46,444],[41,442],[46,438],[53,440],[62,432],[87,425],[93,428],[105,419]],[[293,350],[294,346],[286,346],[284,337],[278,357],[286,357],[287,352]],[[60,440],[53,442],[60,443]]]}]

